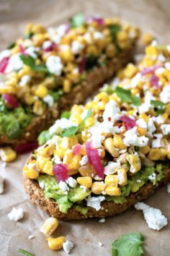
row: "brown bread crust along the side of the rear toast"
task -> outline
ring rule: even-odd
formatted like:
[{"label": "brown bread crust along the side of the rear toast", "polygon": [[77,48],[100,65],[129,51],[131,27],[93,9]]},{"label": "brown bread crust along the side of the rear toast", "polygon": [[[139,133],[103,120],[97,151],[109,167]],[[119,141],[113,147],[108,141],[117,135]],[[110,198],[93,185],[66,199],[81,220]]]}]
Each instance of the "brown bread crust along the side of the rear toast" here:
[{"label": "brown bread crust along the side of the rear toast", "polygon": [[69,110],[73,104],[83,103],[103,82],[112,78],[115,72],[131,61],[134,50],[135,44],[130,49],[123,51],[119,56],[115,56],[107,66],[99,67],[89,72],[86,80],[73,88],[71,93],[63,95],[53,108],[49,108],[42,116],[36,116],[32,119],[31,123],[24,129],[22,137],[16,140],[9,140],[6,136],[0,135],[0,146],[6,144],[14,146],[19,143],[35,142],[40,132],[48,129],[63,111]]}]

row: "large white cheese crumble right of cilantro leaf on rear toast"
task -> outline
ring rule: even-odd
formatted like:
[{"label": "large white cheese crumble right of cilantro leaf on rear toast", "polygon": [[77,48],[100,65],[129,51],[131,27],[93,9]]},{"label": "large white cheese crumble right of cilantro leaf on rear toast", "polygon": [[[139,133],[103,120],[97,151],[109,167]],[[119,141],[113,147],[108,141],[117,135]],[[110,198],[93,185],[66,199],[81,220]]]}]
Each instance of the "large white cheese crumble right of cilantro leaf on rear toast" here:
[{"label": "large white cheese crumble right of cilantro leaf on rear toast", "polygon": [[58,56],[49,56],[46,61],[46,66],[50,73],[55,74],[57,76],[61,75],[63,70],[63,64],[61,63],[61,58]]}]

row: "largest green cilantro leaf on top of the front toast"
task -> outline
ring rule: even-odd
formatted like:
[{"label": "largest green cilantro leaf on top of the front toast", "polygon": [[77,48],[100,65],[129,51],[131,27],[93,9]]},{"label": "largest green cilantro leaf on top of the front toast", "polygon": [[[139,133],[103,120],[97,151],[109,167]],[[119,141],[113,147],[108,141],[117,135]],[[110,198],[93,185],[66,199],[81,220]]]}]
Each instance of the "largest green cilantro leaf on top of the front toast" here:
[{"label": "largest green cilantro leaf on top of the front toast", "polygon": [[137,96],[132,95],[130,90],[126,90],[124,88],[117,87],[115,89],[115,93],[121,99],[122,102],[125,102],[125,103],[130,103],[131,102],[135,106],[140,106],[140,103],[141,103],[140,98],[137,97]]}]

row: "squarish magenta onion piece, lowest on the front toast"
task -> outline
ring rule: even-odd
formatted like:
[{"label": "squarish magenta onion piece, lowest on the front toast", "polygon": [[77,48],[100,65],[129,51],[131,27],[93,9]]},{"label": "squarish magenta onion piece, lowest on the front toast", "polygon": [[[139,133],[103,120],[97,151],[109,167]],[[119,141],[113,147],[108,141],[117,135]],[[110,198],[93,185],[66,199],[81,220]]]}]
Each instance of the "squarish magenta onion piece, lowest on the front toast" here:
[{"label": "squarish magenta onion piece, lowest on the front toast", "polygon": [[64,163],[58,163],[53,166],[53,174],[57,182],[65,182],[69,177],[68,168]]}]

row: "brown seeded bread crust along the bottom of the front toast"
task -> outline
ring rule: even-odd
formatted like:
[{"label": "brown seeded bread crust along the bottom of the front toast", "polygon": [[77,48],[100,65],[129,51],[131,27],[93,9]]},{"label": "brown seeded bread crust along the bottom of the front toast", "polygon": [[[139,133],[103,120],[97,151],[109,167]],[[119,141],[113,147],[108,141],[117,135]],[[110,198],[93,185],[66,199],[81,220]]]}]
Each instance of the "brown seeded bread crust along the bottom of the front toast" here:
[{"label": "brown seeded bread crust along the bottom of the front toast", "polygon": [[122,213],[124,210],[130,208],[135,204],[135,202],[146,199],[159,186],[162,184],[167,184],[169,180],[170,168],[166,168],[166,170],[164,170],[164,179],[162,179],[161,182],[158,182],[154,186],[151,182],[147,182],[138,190],[138,192],[130,193],[130,195],[126,197],[127,202],[117,204],[115,202],[104,201],[101,203],[102,207],[98,211],[94,208],[87,207],[88,213],[86,213],[86,216],[84,216],[76,210],[75,206],[68,209],[68,213],[61,213],[55,200],[45,198],[45,195],[36,180],[27,179],[26,176],[23,176],[24,189],[27,192],[27,195],[29,195],[30,200],[32,200],[37,207],[44,210],[49,216],[63,220],[80,220],[84,218],[105,218],[115,216],[116,214]]}]

